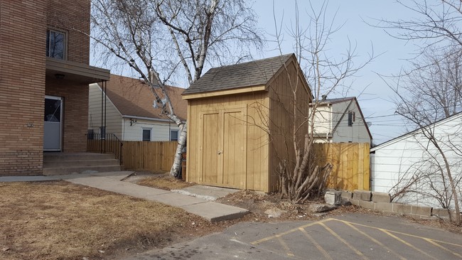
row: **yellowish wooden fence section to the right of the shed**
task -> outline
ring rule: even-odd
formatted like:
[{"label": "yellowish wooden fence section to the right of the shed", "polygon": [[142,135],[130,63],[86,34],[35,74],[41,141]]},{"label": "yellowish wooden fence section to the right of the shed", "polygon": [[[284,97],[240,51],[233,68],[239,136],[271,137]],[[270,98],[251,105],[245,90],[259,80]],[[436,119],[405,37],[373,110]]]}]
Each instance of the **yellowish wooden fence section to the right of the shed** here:
[{"label": "yellowish wooden fence section to the right of the shed", "polygon": [[333,164],[328,188],[370,190],[369,143],[315,143],[318,165]]}]

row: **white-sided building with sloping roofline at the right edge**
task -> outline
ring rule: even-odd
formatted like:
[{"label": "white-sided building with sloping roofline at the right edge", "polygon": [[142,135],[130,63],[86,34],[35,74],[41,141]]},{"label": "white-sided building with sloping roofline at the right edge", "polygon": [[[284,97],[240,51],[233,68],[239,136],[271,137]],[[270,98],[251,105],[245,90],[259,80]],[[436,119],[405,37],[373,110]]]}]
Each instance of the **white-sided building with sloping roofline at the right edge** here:
[{"label": "white-sided building with sloping roofline at the right edge", "polygon": [[390,193],[396,202],[444,207],[452,194],[446,160],[462,205],[461,151],[462,113],[375,146],[370,149],[372,191]]}]

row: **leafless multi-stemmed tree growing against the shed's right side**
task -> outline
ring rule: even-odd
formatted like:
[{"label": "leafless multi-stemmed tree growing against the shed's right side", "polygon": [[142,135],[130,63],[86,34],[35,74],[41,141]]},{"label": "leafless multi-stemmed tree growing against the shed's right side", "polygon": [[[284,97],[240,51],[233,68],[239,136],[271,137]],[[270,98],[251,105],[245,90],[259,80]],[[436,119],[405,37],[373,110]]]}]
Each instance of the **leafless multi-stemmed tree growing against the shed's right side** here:
[{"label": "leafless multi-stemmed tree growing against the shed's right side", "polygon": [[[303,13],[303,16],[299,15],[296,5],[296,20],[294,26],[288,30],[294,41],[294,50],[302,67],[303,76],[311,88],[313,97],[313,102],[307,112],[299,110],[297,104],[306,102],[306,100],[299,100],[297,91],[300,83],[291,83],[291,104],[286,108],[287,114],[290,114],[294,121],[291,132],[272,133],[272,138],[278,134],[290,136],[286,139],[286,149],[279,153],[293,153],[294,158],[291,161],[280,160],[279,162],[279,189],[282,196],[287,196],[294,202],[303,202],[308,197],[322,193],[333,167],[331,163],[318,166],[316,154],[313,151],[315,134],[313,125],[318,105],[326,99],[327,94],[348,91],[350,87],[347,83],[348,79],[354,77],[374,58],[371,53],[364,62],[355,64],[353,61],[358,58],[358,53],[349,40],[350,44],[346,46],[345,53],[339,55],[342,57],[340,60],[335,60],[328,54],[333,34],[342,27],[335,26],[335,13],[332,18],[329,18],[330,13],[328,1],[324,1],[319,9],[310,4],[310,9]],[[274,23],[276,42],[280,46],[283,37],[275,15]],[[286,72],[289,73],[287,68]]]}]

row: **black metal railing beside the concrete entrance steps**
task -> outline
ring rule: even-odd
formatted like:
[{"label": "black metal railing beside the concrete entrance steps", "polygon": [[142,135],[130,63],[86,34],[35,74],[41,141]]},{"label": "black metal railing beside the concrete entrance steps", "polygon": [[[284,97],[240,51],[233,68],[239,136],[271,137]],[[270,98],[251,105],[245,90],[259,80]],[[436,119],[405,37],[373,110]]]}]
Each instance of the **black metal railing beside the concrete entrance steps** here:
[{"label": "black metal railing beside the concrete entrance steps", "polygon": [[115,134],[87,134],[87,151],[96,153],[113,153],[122,166],[122,146],[124,143]]}]

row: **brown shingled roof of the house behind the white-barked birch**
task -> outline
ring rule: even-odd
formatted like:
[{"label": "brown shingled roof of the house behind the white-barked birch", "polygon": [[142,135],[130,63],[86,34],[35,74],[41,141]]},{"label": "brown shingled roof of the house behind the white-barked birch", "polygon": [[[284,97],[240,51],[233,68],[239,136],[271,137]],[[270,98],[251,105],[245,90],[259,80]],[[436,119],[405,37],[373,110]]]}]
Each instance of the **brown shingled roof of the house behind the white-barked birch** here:
[{"label": "brown shingled roof of the house behind the white-barked birch", "polygon": [[[101,83],[99,83],[101,86]],[[142,80],[119,75],[111,75],[107,84],[107,97],[122,114],[122,117],[145,117],[146,119],[169,120],[161,114],[160,108],[154,108],[154,94]],[[186,121],[188,102],[181,99],[184,89],[166,86],[175,114]],[[162,97],[161,90],[159,95]]]}]

